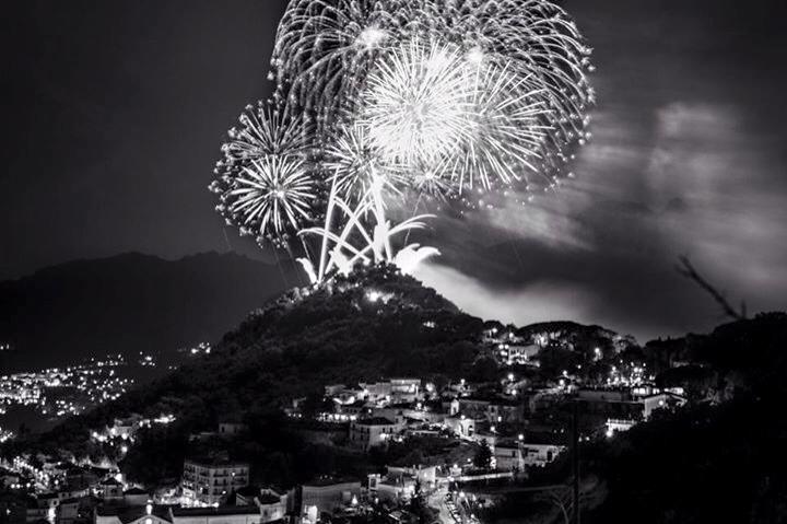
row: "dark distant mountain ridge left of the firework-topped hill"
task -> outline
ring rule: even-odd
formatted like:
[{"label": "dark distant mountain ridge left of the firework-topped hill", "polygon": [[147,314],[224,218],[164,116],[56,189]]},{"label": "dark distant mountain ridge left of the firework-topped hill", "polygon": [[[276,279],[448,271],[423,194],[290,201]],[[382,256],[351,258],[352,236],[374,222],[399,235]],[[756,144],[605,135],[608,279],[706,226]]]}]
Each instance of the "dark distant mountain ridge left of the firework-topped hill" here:
[{"label": "dark distant mountain ridge left of the firework-topped hill", "polygon": [[[290,286],[298,280],[286,271]],[[286,289],[277,266],[235,254],[164,260],[130,253],[0,282],[4,371],[87,356],[175,351],[215,341]]]}]

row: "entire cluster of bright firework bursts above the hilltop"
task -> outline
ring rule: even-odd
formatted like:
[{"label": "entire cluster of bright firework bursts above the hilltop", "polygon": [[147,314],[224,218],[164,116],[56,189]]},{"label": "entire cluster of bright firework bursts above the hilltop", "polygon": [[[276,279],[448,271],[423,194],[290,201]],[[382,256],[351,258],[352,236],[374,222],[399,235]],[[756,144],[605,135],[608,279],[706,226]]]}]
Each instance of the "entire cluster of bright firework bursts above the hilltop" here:
[{"label": "entire cluster of bright firework bursts above the hilltop", "polygon": [[[273,100],[230,131],[218,209],[277,245],[325,219],[321,265],[328,238],[395,231],[391,195],[473,206],[471,189],[551,187],[589,137],[589,55],[550,0],[290,0]],[[339,236],[337,206],[352,225]]]}]

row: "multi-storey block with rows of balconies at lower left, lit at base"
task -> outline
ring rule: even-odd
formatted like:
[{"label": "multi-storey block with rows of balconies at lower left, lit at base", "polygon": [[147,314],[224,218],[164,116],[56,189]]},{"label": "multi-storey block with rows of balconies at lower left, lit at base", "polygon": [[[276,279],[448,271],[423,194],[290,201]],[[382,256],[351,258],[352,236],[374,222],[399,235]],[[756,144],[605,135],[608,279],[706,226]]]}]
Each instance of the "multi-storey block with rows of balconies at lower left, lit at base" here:
[{"label": "multi-storey block with rows of balconies at lower left, lit at base", "polygon": [[186,505],[214,505],[248,485],[249,466],[223,458],[193,459],[184,462],[180,482]]}]

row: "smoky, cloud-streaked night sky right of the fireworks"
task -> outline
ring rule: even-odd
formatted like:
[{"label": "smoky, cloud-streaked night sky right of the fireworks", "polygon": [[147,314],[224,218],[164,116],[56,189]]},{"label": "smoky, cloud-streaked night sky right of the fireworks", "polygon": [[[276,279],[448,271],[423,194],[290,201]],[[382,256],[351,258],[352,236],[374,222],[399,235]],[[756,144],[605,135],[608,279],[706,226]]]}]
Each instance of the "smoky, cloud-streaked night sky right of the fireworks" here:
[{"label": "smoky, cloud-streaked night sky right of the fireworks", "polygon": [[577,179],[447,226],[459,234],[420,276],[484,317],[649,338],[719,322],[673,270],[688,254],[731,298],[787,306],[784,4],[565,3],[599,66]]}]

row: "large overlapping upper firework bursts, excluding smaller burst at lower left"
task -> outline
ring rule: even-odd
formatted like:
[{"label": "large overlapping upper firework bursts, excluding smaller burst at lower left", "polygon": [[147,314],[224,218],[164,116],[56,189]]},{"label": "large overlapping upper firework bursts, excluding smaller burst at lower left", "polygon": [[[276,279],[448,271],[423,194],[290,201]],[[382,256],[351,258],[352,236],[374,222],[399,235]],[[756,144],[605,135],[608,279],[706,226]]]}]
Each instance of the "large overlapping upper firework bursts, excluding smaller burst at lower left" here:
[{"label": "large overlapping upper firework bursts, excluding smaller burst at lower left", "polygon": [[587,139],[589,54],[548,0],[292,0],[272,67],[320,141],[365,119],[398,162],[443,156],[461,194],[561,174]]}]

